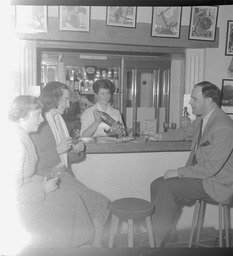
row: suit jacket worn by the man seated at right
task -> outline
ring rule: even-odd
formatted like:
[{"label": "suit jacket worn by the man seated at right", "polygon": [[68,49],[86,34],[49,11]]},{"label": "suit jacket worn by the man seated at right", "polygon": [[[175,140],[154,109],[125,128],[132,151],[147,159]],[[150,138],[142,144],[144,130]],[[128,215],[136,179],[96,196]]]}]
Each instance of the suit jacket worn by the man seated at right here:
[{"label": "suit jacket worn by the man seated at right", "polygon": [[189,159],[186,166],[177,169],[178,176],[202,179],[211,198],[228,203],[233,195],[233,120],[222,109],[214,109],[196,151],[197,164],[192,166],[200,120],[197,117],[187,128],[163,133],[162,141],[192,140]]}]

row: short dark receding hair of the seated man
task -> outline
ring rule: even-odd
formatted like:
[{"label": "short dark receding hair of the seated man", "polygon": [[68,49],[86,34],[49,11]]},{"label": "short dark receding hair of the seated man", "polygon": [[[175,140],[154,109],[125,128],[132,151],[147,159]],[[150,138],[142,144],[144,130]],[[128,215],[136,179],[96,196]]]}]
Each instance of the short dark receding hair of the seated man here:
[{"label": "short dark receding hair of the seated man", "polygon": [[202,94],[204,98],[212,98],[218,106],[220,106],[221,91],[215,84],[208,81],[203,81],[195,85],[202,87]]}]

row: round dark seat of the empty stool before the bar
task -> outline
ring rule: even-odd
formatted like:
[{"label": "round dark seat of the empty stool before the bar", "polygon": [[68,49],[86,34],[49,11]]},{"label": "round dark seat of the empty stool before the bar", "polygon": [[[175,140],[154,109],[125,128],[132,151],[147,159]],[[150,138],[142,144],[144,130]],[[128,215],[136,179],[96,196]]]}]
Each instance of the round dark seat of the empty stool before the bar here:
[{"label": "round dark seat of the empty stool before the bar", "polygon": [[140,198],[121,198],[110,204],[110,212],[120,219],[145,218],[154,211],[154,206]]}]

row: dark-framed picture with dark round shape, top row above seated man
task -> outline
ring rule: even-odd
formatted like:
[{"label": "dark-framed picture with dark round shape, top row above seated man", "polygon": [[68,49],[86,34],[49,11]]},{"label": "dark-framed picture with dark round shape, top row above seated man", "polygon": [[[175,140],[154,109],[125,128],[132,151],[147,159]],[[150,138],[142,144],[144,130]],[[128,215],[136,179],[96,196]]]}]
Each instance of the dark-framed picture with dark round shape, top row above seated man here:
[{"label": "dark-framed picture with dark round shape, top row above seated man", "polygon": [[190,15],[189,39],[214,41],[218,6],[193,6]]}]

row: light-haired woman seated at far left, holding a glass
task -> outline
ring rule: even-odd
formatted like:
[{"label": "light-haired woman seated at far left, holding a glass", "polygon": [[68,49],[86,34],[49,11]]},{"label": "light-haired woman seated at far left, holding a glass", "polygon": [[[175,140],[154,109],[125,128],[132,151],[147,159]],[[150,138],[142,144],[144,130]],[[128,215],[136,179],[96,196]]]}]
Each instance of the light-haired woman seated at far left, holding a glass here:
[{"label": "light-haired woman seated at far left, holding a glass", "polygon": [[14,169],[9,175],[16,186],[19,220],[29,234],[28,248],[77,247],[93,238],[93,220],[85,198],[65,187],[62,176],[47,179],[35,173],[37,154],[29,133],[43,122],[41,108],[37,98],[21,95],[9,113],[14,122]]}]

